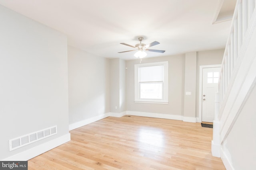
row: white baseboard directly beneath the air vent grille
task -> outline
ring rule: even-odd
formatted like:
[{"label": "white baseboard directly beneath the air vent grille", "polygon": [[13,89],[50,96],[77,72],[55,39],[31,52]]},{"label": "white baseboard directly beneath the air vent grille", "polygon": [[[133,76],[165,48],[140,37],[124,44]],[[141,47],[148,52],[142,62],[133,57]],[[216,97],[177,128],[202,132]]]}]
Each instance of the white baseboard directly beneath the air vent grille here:
[{"label": "white baseboard directly beneath the air vent grille", "polygon": [[70,133],[33,147],[31,149],[25,150],[13,156],[3,159],[2,161],[27,161],[35,156],[38,156],[48,150],[54,149],[66,142],[70,141]]}]

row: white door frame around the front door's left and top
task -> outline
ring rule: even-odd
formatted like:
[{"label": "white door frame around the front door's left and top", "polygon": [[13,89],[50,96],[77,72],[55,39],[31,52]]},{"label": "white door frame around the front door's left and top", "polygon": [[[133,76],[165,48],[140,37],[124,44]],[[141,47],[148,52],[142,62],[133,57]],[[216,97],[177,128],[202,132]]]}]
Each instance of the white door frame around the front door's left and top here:
[{"label": "white door frame around the front door's left and top", "polygon": [[202,122],[203,68],[221,67],[221,64],[199,66],[198,122]]}]

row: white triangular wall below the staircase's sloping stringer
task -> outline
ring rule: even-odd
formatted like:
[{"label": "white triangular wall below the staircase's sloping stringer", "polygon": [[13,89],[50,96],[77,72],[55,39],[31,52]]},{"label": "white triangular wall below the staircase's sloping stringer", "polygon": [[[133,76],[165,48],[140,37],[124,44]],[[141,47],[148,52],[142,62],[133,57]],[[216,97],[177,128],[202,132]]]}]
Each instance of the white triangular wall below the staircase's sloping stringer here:
[{"label": "white triangular wall below the staircase's sloping stringer", "polygon": [[256,167],[256,86],[222,146],[235,170],[254,170]]}]

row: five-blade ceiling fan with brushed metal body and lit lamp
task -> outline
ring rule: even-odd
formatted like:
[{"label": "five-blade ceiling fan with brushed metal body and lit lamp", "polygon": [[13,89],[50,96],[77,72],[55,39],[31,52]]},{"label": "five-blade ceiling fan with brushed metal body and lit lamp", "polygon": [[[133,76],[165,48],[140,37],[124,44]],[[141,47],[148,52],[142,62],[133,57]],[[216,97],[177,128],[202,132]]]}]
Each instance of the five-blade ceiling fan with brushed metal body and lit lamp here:
[{"label": "five-blade ceiling fan with brushed metal body and lit lamp", "polygon": [[[160,44],[158,41],[154,41],[148,45],[146,44],[142,44],[141,41],[143,40],[144,38],[143,37],[139,37],[138,40],[140,41],[139,44],[136,44],[135,46],[133,45],[129,45],[129,44],[126,44],[126,43],[120,43],[122,45],[127,45],[129,47],[133,47],[135,48],[134,50],[129,50],[129,51],[137,51],[134,56],[137,57],[137,58],[140,58],[142,59],[143,57],[146,57],[147,53],[145,51],[152,51],[152,52],[157,52],[157,53],[164,53],[165,51],[164,50],[153,50],[153,49],[148,49],[148,47],[152,47],[154,45],[158,45]],[[129,52],[129,51],[122,51],[122,52],[118,52],[118,53],[125,53],[125,52]]]}]

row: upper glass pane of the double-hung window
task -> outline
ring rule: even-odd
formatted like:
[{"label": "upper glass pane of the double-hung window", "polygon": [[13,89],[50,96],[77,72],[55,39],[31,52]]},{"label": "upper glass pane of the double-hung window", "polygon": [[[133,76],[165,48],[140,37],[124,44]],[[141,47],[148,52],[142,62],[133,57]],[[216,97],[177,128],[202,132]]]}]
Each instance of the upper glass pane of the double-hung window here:
[{"label": "upper glass pane of the double-hung window", "polygon": [[140,67],[139,82],[163,81],[164,66],[145,66]]}]

